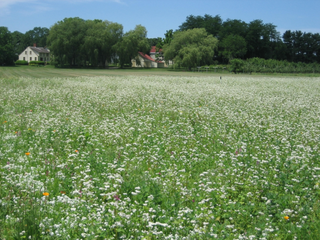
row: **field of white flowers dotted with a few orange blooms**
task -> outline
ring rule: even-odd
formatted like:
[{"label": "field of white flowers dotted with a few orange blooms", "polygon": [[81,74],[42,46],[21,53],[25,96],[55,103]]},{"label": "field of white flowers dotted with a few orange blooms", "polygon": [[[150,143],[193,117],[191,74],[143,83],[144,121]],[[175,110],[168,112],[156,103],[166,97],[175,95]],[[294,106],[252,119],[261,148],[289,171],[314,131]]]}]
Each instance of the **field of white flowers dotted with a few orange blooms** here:
[{"label": "field of white flowers dotted with a few orange blooms", "polygon": [[319,239],[320,78],[0,88],[0,239]]}]

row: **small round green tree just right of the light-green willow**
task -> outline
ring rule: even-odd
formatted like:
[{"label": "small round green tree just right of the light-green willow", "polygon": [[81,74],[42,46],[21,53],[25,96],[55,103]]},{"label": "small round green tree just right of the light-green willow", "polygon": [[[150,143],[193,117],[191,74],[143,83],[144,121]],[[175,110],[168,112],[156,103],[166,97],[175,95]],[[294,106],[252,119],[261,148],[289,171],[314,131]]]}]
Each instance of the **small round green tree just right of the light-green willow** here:
[{"label": "small round green tree just right of the light-green willow", "polygon": [[246,40],[239,35],[227,36],[220,42],[219,47],[223,58],[229,61],[233,58],[241,58],[247,52]]}]

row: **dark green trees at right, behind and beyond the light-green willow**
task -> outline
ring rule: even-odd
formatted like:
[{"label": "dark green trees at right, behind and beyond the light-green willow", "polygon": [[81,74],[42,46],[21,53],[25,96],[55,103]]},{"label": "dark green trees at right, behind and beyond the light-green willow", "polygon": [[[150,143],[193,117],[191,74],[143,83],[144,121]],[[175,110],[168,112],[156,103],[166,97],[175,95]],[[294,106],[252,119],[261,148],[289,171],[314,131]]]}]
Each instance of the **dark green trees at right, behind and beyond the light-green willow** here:
[{"label": "dark green trees at right, behind and beyond the light-green willow", "polygon": [[263,58],[289,62],[320,62],[320,34],[287,30],[281,36],[276,26],[253,20],[223,21],[219,15],[190,15],[178,31],[204,28],[219,40],[214,58],[229,62],[233,58]]}]

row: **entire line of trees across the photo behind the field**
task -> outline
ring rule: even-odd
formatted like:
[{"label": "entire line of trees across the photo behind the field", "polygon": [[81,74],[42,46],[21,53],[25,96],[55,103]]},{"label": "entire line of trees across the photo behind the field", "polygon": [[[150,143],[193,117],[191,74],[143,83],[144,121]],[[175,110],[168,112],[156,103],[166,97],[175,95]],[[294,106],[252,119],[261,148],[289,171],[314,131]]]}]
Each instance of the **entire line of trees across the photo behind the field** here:
[{"label": "entire line of trees across the photo behind the field", "polygon": [[155,45],[163,49],[162,59],[174,60],[176,66],[189,69],[214,61],[228,64],[235,58],[320,63],[319,33],[287,30],[280,36],[275,25],[262,20],[246,23],[223,21],[219,15],[190,15],[179,29],[164,35],[148,39],[141,25],[124,33],[119,23],[77,17],[65,18],[50,29],[36,27],[25,34],[0,27],[0,65],[13,63],[33,43],[47,46],[57,66],[105,67],[113,62],[124,67],[131,64],[138,51],[148,53]]}]

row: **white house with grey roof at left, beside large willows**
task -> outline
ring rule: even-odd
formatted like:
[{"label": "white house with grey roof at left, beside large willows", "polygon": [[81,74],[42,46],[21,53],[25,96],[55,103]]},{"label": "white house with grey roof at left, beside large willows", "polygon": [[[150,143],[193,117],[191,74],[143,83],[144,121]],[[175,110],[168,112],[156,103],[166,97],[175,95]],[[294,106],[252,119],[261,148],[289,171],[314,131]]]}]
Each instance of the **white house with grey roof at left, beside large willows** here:
[{"label": "white house with grey roof at left, beside large willows", "polygon": [[50,50],[43,47],[37,47],[37,44],[33,44],[33,47],[27,47],[20,55],[19,60],[23,61],[44,61],[50,62]]}]

